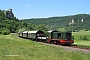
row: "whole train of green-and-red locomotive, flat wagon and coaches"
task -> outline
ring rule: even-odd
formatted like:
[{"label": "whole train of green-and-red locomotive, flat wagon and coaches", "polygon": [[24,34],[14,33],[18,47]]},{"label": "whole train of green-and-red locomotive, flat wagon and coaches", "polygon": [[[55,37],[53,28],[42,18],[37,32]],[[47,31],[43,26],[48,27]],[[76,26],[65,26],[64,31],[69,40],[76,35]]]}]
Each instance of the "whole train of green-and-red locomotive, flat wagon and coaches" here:
[{"label": "whole train of green-and-red locomotive, flat wagon and coaches", "polygon": [[47,42],[56,45],[71,45],[74,43],[72,32],[60,32],[57,30],[47,31],[48,36],[44,37],[44,32],[41,30],[36,31],[23,31],[19,32],[18,36],[34,41]]}]

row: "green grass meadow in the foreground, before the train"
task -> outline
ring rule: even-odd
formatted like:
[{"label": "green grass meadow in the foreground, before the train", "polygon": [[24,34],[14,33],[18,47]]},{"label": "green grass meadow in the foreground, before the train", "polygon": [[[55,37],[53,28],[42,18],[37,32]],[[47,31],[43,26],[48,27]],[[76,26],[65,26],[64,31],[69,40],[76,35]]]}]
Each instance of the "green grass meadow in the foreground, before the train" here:
[{"label": "green grass meadow in the foreground, before the train", "polygon": [[90,60],[90,54],[65,51],[14,35],[0,35],[0,60]]}]

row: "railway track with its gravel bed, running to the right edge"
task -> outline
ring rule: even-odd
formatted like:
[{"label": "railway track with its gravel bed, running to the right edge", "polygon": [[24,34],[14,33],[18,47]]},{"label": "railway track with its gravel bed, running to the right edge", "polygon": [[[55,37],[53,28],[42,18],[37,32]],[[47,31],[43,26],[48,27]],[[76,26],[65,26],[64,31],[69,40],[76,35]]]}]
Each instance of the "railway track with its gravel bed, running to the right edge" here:
[{"label": "railway track with its gravel bed, running to the right edge", "polygon": [[62,46],[62,45],[55,45],[55,44],[49,44],[49,43],[43,43],[43,42],[38,42],[38,43],[63,48],[64,50],[69,51],[69,52],[70,51],[80,51],[85,54],[90,54],[90,48],[82,48],[77,45]]}]

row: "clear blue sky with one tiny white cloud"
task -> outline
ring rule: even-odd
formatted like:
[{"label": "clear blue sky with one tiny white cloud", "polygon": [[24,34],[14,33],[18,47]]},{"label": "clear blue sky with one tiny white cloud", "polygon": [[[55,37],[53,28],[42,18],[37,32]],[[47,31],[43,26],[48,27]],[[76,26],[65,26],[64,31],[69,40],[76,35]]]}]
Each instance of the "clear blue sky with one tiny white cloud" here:
[{"label": "clear blue sky with one tiny white cloud", "polygon": [[18,19],[90,14],[90,0],[0,0],[0,9],[12,8]]}]

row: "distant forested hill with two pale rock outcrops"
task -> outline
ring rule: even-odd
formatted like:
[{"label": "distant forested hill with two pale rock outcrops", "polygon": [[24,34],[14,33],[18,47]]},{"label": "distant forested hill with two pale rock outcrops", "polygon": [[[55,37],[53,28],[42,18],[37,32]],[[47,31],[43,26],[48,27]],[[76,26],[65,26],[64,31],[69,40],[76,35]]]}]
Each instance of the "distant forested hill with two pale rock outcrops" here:
[{"label": "distant forested hill with two pale rock outcrops", "polygon": [[77,14],[71,16],[62,17],[49,17],[49,18],[37,18],[37,19],[23,19],[28,23],[43,24],[48,29],[58,29],[67,31],[78,30],[90,30],[90,15],[89,14]]}]

